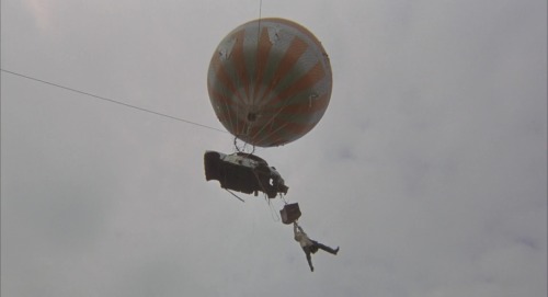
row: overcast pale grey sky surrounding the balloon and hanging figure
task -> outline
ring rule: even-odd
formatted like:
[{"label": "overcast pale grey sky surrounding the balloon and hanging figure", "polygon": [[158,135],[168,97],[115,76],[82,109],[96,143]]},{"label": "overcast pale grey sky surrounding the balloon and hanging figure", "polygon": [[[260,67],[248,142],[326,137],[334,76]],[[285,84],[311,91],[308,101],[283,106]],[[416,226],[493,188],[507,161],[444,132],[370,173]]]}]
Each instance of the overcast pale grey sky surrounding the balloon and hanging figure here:
[{"label": "overcast pale grey sky surrounding the balloon and hanging figure", "polygon": [[209,59],[259,3],[1,1],[1,295],[547,296],[546,1],[262,1],[333,69],[318,126],[256,151],[341,247],[313,273],[279,199],[204,178],[233,151]]}]

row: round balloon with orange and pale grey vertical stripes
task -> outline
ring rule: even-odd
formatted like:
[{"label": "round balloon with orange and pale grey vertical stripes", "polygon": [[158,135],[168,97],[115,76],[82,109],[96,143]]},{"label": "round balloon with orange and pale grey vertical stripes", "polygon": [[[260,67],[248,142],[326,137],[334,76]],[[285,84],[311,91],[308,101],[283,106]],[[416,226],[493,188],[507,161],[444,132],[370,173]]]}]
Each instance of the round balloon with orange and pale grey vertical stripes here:
[{"label": "round balloon with orange and pale grey vertical stripes", "polygon": [[294,141],[321,119],[331,96],[328,55],[304,26],[282,19],[251,21],[217,46],[207,73],[220,123],[260,147]]}]

